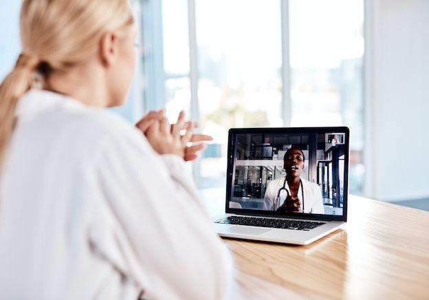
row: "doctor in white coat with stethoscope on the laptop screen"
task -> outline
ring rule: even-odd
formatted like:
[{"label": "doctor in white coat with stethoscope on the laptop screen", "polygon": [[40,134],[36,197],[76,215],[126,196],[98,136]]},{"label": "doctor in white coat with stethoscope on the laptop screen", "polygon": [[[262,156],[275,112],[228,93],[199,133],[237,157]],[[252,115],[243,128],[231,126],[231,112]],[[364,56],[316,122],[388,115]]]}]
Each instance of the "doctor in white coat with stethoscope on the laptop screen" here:
[{"label": "doctor in white coat with stethoscope on the laptop screen", "polygon": [[272,180],[264,197],[264,210],[278,213],[325,213],[318,184],[300,178],[305,157],[292,147],[283,158],[286,176]]}]

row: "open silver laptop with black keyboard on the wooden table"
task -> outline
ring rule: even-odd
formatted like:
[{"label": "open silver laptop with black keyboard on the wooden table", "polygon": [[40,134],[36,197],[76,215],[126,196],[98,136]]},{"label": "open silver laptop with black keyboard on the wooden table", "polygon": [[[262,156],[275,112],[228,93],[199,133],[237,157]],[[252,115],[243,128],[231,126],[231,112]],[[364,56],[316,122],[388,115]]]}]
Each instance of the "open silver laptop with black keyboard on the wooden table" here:
[{"label": "open silver laptop with black keyboard on the wooden table", "polygon": [[228,134],[222,237],[307,245],[347,222],[349,128],[245,128]]}]

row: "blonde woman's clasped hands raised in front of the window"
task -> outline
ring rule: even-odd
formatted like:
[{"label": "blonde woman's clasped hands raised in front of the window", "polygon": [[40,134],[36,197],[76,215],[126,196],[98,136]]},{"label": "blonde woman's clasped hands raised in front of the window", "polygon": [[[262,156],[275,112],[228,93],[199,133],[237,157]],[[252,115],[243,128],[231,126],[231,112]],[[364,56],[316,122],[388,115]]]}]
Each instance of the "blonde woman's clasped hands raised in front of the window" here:
[{"label": "blonde woman's clasped hands raised in front of the window", "polygon": [[197,152],[206,147],[205,144],[192,144],[193,142],[213,140],[206,134],[193,133],[197,126],[196,122],[185,121],[184,111],[179,113],[177,122],[170,125],[164,109],[150,111],[135,125],[157,153],[177,154],[185,161],[195,160]]}]

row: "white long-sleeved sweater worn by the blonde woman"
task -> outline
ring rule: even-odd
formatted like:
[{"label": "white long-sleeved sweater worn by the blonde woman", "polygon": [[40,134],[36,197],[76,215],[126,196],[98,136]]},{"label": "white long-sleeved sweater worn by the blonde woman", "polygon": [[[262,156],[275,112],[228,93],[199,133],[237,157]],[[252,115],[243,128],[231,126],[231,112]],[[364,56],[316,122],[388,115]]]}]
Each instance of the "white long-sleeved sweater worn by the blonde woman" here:
[{"label": "white long-sleeved sweater worn by the blonde woman", "polygon": [[222,299],[190,172],[104,109],[32,89],[0,177],[0,299]]}]

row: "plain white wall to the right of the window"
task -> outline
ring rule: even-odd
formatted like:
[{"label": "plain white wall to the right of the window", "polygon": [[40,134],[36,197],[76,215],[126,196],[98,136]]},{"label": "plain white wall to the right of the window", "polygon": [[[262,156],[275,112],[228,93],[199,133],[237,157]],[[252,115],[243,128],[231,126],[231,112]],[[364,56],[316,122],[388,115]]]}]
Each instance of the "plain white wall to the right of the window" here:
[{"label": "plain white wall to the right of the window", "polygon": [[366,4],[366,195],[429,197],[429,1]]}]

